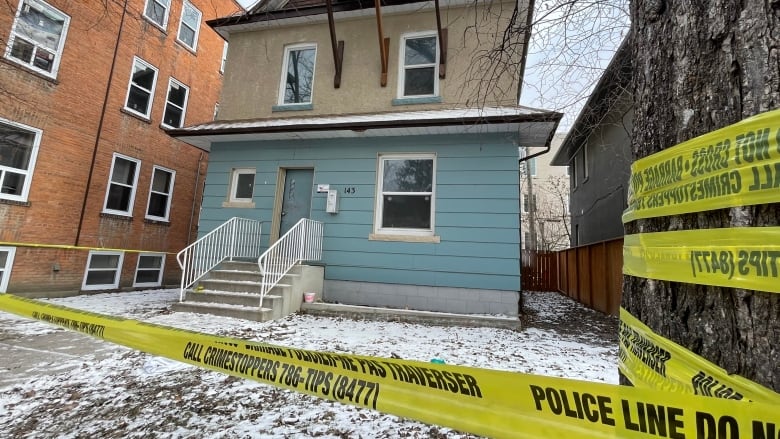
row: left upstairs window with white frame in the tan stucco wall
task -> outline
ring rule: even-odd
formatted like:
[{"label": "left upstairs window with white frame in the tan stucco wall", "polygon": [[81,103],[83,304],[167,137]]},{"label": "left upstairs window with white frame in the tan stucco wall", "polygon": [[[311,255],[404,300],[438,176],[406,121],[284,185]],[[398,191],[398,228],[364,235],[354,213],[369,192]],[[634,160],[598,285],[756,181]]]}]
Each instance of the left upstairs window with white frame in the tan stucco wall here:
[{"label": "left upstairs window with white frame in the tan stucco wall", "polygon": [[311,104],[317,46],[297,44],[284,49],[279,105]]}]

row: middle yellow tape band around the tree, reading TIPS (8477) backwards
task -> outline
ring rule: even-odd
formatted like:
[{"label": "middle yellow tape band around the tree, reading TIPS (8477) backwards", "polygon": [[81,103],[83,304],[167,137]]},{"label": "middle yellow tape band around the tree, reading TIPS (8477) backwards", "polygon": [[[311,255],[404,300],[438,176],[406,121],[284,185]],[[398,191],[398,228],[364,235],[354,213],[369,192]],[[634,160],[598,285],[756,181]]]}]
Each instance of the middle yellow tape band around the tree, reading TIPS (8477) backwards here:
[{"label": "middle yellow tape band around the tree, reading TIPS (8477) backwards", "polygon": [[626,235],[623,273],[780,293],[780,227]]}]

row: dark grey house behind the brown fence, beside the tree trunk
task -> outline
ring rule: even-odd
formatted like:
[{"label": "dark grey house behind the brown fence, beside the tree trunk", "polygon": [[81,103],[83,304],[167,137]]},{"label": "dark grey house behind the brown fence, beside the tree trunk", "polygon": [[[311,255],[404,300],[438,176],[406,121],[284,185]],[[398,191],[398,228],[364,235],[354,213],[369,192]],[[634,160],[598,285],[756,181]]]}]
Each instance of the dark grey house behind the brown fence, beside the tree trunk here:
[{"label": "dark grey house behind the brown fence, beside the tree trunk", "polygon": [[624,41],[552,160],[571,176],[571,245],[623,236],[631,174],[631,54]]}]

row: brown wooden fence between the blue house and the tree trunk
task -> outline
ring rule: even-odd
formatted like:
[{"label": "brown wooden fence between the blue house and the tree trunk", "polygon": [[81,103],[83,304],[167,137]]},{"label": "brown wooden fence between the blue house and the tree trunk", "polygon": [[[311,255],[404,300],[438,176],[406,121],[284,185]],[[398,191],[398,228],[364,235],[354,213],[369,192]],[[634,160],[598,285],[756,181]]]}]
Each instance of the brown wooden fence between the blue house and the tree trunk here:
[{"label": "brown wooden fence between the blue house and the tree trunk", "polygon": [[522,288],[560,291],[605,314],[618,315],[623,288],[623,238],[559,252],[523,251]]}]

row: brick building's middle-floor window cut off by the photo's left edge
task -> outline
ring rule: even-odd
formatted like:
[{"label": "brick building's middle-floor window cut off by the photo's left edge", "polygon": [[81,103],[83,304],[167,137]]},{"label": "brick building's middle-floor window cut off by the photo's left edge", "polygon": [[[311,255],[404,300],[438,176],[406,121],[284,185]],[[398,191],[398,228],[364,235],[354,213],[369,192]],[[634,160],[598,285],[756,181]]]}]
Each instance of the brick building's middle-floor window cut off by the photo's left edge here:
[{"label": "brick building's middle-floor window cut off by the photo's left edge", "polygon": [[0,119],[0,199],[27,201],[41,133]]}]

